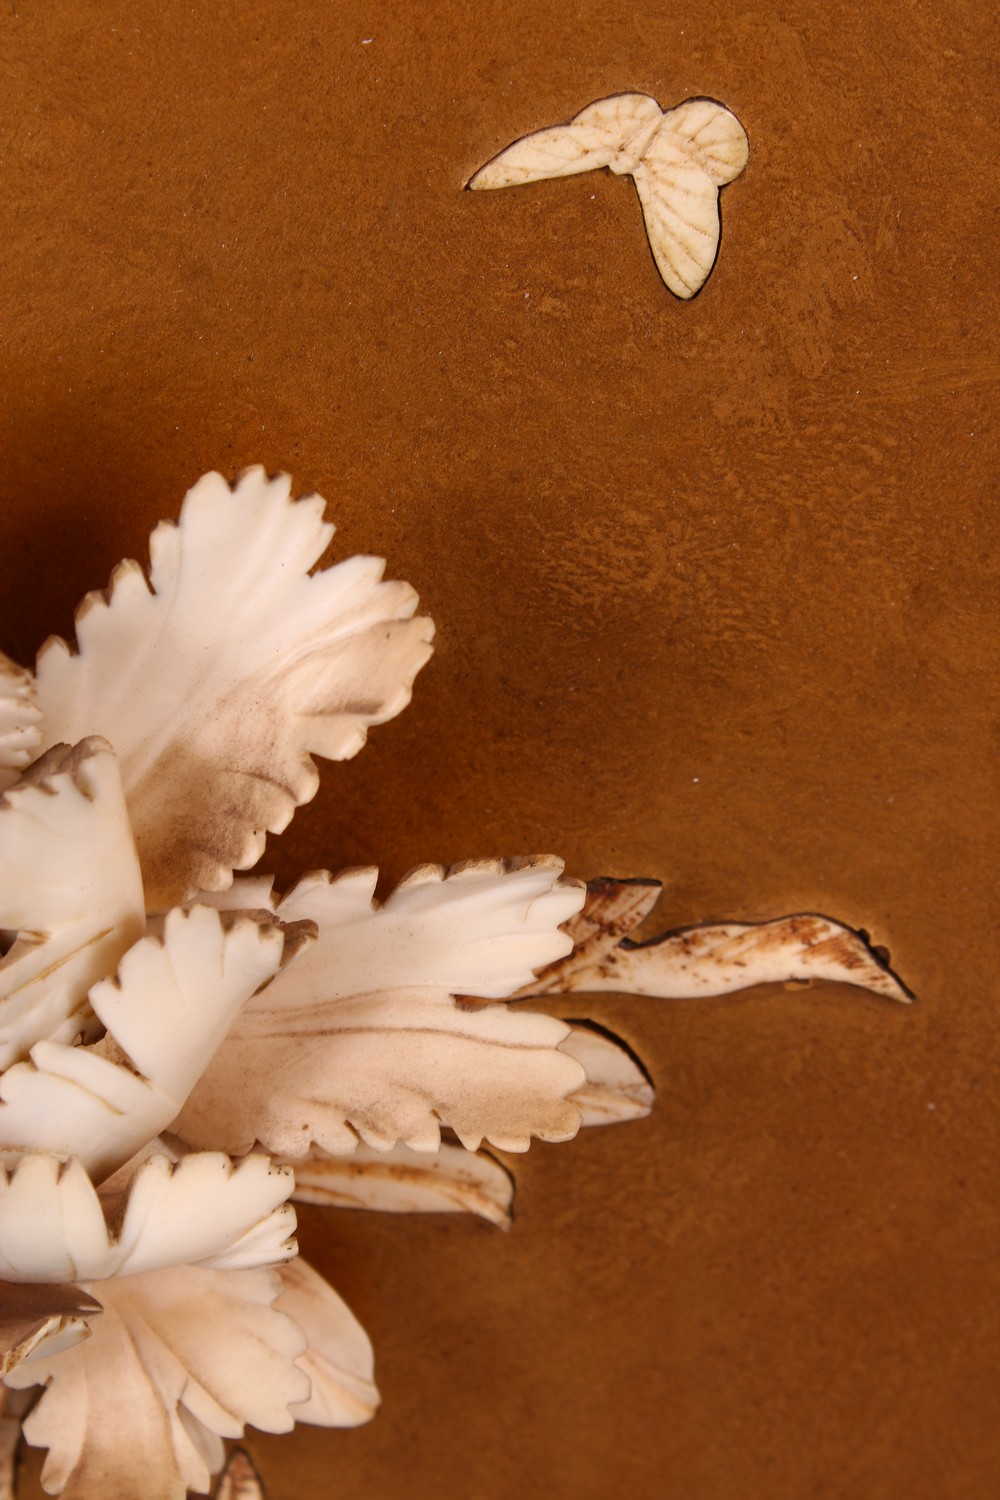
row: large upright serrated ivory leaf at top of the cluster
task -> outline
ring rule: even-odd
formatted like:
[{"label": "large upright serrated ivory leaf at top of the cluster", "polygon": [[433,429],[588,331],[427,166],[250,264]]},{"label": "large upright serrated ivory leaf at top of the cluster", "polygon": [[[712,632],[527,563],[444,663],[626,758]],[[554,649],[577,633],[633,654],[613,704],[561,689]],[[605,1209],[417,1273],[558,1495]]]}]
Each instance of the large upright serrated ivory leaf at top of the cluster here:
[{"label": "large upright serrated ivory leaf at top of the cluster", "polygon": [[[309,573],[333,526],[291,480],[205,474],[39,652],[45,734],[103,734],[121,765],[150,910],[223,890],[342,760],[403,708],[433,627],[379,558]],[[150,586],[151,585],[151,586]]]}]

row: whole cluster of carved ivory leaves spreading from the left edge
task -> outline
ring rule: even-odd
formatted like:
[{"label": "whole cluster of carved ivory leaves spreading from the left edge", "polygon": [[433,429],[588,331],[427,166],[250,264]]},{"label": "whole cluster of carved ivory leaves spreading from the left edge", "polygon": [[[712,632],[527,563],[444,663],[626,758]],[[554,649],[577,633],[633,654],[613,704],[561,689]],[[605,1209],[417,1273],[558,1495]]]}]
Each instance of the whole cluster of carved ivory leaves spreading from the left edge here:
[{"label": "whole cluster of carved ivory leaves spreading from the left edge", "polygon": [[234,879],[313,795],[310,754],[354,754],[430,654],[379,560],[310,572],[322,518],[286,477],[208,474],[153,532],[148,582],[123,562],[84,600],[76,650],[4,658],[7,1492],[21,1424],[51,1492],[177,1500],[246,1424],[367,1420],[370,1344],[295,1258],[289,1198],[502,1226],[483,1142],[648,1113],[607,1034],[459,998],[814,976],[904,998],[825,918],[631,942],[657,882],[588,892],[553,858],[421,866],[382,904],[375,870],[283,898]]}]

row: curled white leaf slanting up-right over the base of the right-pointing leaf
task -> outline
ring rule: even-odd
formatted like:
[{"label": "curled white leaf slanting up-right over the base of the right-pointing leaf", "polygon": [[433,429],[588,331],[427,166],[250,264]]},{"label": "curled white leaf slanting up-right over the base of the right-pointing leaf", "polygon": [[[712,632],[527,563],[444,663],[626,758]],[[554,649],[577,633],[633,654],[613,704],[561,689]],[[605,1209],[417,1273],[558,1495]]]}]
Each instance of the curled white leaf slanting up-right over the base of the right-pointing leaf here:
[{"label": "curled white leaf slanting up-right over the base of the right-pointing leaf", "polygon": [[169,912],[91,988],[99,1042],[39,1041],[0,1077],[0,1160],[76,1155],[106,1178],[169,1125],[240,1008],[313,932],[270,912]]}]

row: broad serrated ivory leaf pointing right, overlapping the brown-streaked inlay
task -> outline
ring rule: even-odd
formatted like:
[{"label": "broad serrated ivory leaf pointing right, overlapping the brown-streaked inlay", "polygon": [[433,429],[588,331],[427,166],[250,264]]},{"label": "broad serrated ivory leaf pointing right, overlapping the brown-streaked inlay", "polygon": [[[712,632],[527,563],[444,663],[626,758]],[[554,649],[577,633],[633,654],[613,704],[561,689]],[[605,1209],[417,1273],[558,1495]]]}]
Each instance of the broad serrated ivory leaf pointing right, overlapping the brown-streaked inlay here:
[{"label": "broad serrated ivory leaf pointing right, overlapping the brown-streaked inlay", "polygon": [[456,1002],[510,994],[568,951],[559,924],[583,891],[561,873],[549,858],[421,866],[382,906],[373,870],[306,876],[277,915],[315,921],[316,945],[244,1006],[172,1131],[289,1158],[358,1138],[430,1152],[442,1124],[469,1149],[568,1140],[583,1068],[559,1050],[567,1026]]}]

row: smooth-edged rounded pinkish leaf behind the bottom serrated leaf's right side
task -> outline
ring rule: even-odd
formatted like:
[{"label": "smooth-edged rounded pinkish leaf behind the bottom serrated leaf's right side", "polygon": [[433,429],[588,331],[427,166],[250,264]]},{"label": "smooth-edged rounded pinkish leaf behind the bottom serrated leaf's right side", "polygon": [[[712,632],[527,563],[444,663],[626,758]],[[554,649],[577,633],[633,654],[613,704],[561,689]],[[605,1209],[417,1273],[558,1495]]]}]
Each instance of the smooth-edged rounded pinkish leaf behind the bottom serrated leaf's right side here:
[{"label": "smooth-edged rounded pinkish leaf behind the bottom serrated leaf's right side", "polygon": [[280,1266],[282,1294],[274,1304],[303,1330],[307,1347],[295,1364],[309,1376],[306,1401],[295,1401],[291,1414],[315,1426],[360,1426],[379,1404],[375,1386],[372,1341],[312,1266],[301,1257]]}]

